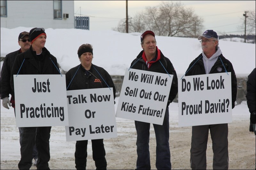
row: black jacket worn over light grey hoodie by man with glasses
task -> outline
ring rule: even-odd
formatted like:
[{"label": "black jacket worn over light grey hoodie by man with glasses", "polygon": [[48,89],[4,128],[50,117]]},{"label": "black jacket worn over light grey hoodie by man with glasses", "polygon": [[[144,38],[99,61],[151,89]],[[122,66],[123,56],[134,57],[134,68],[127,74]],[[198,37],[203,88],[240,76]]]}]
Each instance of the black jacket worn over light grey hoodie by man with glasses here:
[{"label": "black jacket worn over light grey hoodie by man with glasses", "polygon": [[[220,58],[224,65],[222,64]],[[193,64],[195,65],[193,66]],[[235,107],[235,102],[236,102],[237,82],[236,82],[236,74],[233,69],[232,63],[229,60],[227,60],[222,54],[220,54],[220,56],[218,57],[218,60],[212,66],[212,69],[209,74],[225,73],[225,68],[227,72],[231,72],[231,94],[232,94],[232,109],[233,109]],[[185,75],[189,76],[189,75],[200,75],[200,74],[206,74],[202,53],[190,63]]]}]

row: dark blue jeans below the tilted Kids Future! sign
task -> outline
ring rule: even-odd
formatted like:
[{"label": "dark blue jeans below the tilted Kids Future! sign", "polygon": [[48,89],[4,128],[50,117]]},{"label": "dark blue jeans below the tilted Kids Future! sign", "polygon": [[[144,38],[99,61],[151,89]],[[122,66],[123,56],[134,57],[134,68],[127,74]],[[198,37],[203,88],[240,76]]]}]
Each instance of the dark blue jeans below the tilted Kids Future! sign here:
[{"label": "dark blue jeans below the tilted Kids Future! sign", "polygon": [[[163,125],[153,124],[156,134],[156,168],[172,169],[169,147],[169,109],[166,108]],[[137,131],[136,169],[150,169],[149,129],[150,123],[135,121]]]}]

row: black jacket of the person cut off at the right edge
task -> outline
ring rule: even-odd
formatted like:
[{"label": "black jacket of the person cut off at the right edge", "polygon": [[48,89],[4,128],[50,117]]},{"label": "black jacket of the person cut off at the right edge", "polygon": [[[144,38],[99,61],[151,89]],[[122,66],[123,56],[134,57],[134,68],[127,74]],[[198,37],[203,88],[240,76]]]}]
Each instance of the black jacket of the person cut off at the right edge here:
[{"label": "black jacket of the person cut off at the right edge", "polygon": [[248,81],[247,81],[247,93],[246,93],[246,99],[247,99],[247,106],[249,108],[250,113],[253,113],[256,111],[256,84],[255,84],[255,69],[252,70],[252,73],[248,75]]}]

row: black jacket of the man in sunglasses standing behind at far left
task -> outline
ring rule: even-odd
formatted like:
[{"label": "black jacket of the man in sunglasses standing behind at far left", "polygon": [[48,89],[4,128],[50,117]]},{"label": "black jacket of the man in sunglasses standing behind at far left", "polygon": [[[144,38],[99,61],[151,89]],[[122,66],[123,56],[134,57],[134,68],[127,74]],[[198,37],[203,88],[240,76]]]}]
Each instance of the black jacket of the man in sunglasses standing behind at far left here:
[{"label": "black jacket of the man in sunglasses standing behind at far left", "polygon": [[0,81],[0,93],[1,99],[9,97],[9,94],[14,94],[10,85],[11,71],[13,62],[18,54],[21,53],[21,49],[9,53],[5,56],[4,63],[1,70],[1,81]]}]

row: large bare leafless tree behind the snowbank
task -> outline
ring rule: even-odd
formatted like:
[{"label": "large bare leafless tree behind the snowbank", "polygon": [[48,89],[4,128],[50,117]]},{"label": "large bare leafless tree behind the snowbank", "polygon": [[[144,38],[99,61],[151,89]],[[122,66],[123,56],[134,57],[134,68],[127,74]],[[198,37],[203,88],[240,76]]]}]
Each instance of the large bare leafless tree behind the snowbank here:
[{"label": "large bare leafless tree behind the snowbank", "polygon": [[[191,8],[185,8],[180,2],[162,2],[156,7],[146,7],[129,21],[129,32],[152,30],[161,36],[197,37],[203,28],[203,19]],[[124,21],[114,28],[124,32]]]}]

